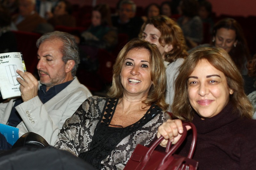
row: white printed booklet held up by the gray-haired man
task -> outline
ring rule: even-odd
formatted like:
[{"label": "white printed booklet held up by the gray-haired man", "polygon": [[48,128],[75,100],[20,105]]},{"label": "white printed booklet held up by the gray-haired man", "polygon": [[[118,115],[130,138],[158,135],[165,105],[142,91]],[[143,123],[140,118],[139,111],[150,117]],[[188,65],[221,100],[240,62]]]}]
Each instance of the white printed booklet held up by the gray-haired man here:
[{"label": "white printed booklet held up by the gray-haired man", "polygon": [[0,54],[0,91],[3,99],[20,96],[20,77],[16,70],[26,71],[22,54],[19,52]]}]

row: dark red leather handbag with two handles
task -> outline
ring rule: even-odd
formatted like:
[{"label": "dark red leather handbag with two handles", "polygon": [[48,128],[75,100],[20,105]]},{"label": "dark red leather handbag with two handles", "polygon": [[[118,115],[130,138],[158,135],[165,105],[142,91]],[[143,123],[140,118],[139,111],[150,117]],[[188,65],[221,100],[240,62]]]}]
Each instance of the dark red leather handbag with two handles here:
[{"label": "dark red leather handbag with two handles", "polygon": [[[183,157],[173,153],[187,137],[186,125],[191,126],[193,139],[188,157]],[[183,129],[184,132],[180,140],[173,147],[171,147],[171,142],[169,141],[165,152],[155,151],[164,137],[159,137],[149,148],[138,144],[124,170],[196,170],[198,161],[192,159],[196,147],[196,127],[190,122],[183,122]]]}]

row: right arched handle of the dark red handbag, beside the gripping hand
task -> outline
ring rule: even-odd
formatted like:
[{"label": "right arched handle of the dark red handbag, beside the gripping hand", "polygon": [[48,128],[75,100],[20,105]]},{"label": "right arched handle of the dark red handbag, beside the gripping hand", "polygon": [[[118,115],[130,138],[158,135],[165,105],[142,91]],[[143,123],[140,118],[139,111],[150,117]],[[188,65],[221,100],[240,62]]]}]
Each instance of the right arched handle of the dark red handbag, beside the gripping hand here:
[{"label": "right arched handle of the dark red handbag, beside the gripping hand", "polygon": [[161,161],[161,163],[159,164],[158,167],[164,165],[164,162],[169,159],[172,154],[180,147],[180,145],[183,143],[183,141],[185,140],[185,138],[187,137],[187,128],[186,126],[190,126],[191,129],[192,129],[192,142],[191,142],[191,145],[190,145],[190,150],[189,150],[189,153],[188,153],[188,156],[187,158],[188,159],[192,159],[192,156],[195,152],[195,148],[196,148],[196,136],[197,136],[197,132],[196,132],[196,127],[193,123],[190,123],[190,122],[183,122],[182,123],[182,126],[183,126],[183,133],[179,139],[179,141],[172,147],[172,149],[164,156],[164,159]]}]

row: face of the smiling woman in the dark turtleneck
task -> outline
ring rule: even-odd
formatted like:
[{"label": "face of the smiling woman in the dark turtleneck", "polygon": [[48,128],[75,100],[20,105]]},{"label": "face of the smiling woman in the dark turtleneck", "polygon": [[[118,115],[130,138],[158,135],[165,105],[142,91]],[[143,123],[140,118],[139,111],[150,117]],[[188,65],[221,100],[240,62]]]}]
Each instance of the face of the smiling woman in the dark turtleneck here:
[{"label": "face of the smiling woman in the dark turtleneck", "polygon": [[230,94],[233,90],[224,73],[206,59],[200,60],[188,77],[188,100],[196,113],[203,119],[217,115],[228,104]]}]

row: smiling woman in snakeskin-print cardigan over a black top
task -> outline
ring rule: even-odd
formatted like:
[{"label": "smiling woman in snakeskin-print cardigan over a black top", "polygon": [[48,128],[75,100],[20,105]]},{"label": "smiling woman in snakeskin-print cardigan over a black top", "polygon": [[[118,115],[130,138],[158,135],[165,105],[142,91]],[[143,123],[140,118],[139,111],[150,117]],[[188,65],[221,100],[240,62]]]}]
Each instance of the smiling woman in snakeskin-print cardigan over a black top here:
[{"label": "smiling woman in snakeskin-print cardigan over a black top", "polygon": [[55,147],[97,169],[123,169],[137,144],[150,144],[158,127],[170,119],[165,85],[157,46],[140,39],[128,42],[113,66],[108,98],[85,100],[64,123]]}]

